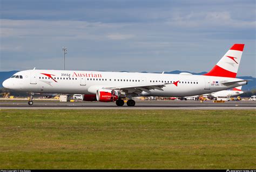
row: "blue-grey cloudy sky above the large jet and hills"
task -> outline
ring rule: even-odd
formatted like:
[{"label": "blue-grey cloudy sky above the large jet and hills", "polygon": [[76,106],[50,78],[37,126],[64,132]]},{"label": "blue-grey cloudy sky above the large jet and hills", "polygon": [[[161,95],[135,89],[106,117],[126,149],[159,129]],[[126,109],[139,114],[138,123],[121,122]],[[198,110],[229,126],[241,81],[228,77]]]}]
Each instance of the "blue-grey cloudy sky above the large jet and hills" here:
[{"label": "blue-grey cloudy sky above the large jet and hills", "polygon": [[0,71],[210,71],[245,44],[256,77],[256,1],[0,0]]}]

